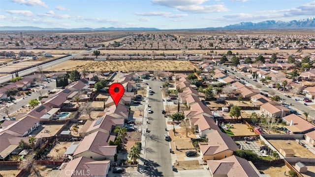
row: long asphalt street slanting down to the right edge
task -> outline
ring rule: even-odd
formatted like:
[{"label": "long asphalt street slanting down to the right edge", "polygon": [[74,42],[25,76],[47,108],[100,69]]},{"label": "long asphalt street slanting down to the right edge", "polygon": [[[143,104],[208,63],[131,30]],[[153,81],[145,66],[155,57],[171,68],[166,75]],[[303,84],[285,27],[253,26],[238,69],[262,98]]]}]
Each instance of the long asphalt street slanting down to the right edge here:
[{"label": "long asphalt street slanting down to the right edge", "polygon": [[[219,68],[219,67],[216,67],[216,68]],[[222,68],[224,70],[231,71],[231,69],[226,67],[226,66],[221,66],[220,68]],[[261,85],[261,88],[259,88],[259,90],[261,90],[263,92],[268,93],[269,91],[274,90],[276,95],[278,95],[280,98],[284,98],[283,101],[285,103],[287,103],[288,105],[292,104],[292,106],[290,106],[291,108],[294,108],[294,109],[296,109],[296,110],[298,110],[300,112],[309,112],[310,116],[315,117],[315,110],[312,107],[305,106],[303,103],[297,102],[293,98],[286,98],[286,97],[283,96],[283,93],[281,93],[281,91],[279,92],[276,89],[269,88],[266,85],[262,85],[259,82],[255,82],[255,81],[253,81],[253,79],[250,79],[250,78],[246,77],[244,74],[241,74],[239,72],[234,72],[234,74],[235,74],[235,76],[237,76],[239,78],[244,77],[245,80],[249,81],[248,83],[252,84],[253,86],[255,86],[257,84]]]}]

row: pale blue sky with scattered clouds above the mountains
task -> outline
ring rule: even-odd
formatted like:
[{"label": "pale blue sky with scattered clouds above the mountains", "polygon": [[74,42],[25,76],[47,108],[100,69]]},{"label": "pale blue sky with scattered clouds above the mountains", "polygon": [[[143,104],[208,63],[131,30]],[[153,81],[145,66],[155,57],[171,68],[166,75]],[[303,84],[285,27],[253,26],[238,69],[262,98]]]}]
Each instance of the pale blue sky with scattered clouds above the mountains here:
[{"label": "pale blue sky with scattered clouds above the mountains", "polygon": [[315,17],[315,0],[0,0],[0,27],[196,29]]}]

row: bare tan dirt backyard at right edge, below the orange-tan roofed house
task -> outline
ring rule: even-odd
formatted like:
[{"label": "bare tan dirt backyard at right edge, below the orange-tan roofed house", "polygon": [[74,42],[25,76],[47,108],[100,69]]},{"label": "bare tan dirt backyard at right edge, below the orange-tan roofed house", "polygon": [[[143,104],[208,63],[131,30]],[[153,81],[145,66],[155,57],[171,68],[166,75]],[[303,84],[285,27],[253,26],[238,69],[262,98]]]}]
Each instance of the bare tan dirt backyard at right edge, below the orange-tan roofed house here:
[{"label": "bare tan dirt backyard at right edge, below the orange-tan roofed house", "polygon": [[[280,151],[280,148],[294,149],[295,157],[315,158],[315,154],[298,144],[295,140],[268,140],[268,142],[270,142],[278,151]],[[288,145],[287,142],[290,142],[291,145]]]}]

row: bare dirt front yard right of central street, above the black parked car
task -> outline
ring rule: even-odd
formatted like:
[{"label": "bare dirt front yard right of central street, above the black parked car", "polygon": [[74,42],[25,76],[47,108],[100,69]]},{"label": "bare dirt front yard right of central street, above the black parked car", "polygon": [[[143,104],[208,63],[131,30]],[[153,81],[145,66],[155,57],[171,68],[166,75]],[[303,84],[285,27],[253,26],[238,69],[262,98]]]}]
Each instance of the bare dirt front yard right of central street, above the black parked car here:
[{"label": "bare dirt front yard right of central street, above the black parked car", "polygon": [[[176,129],[175,135],[176,136],[174,136],[173,131],[170,130],[169,136],[172,140],[171,148],[174,149],[175,154],[185,153],[189,149],[194,149],[190,141],[190,138],[196,138],[194,134],[189,133],[188,137],[186,137],[186,134],[184,133],[183,129]],[[187,150],[176,150],[175,145],[177,146],[178,149],[187,149]]]}]

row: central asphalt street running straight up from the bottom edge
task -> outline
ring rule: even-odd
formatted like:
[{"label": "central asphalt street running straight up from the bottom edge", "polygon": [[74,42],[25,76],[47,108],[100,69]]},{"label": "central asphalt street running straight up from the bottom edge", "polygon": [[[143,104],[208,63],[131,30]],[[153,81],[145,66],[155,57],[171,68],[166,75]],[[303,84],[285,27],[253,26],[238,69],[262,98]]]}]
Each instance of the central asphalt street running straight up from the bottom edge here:
[{"label": "central asphalt street running straight up from the bottom edge", "polygon": [[[154,95],[150,95],[149,108],[153,113],[148,114],[148,130],[147,145],[145,154],[145,175],[149,177],[172,177],[171,154],[169,151],[169,142],[164,140],[166,122],[162,114],[163,102],[162,93],[159,86],[162,81],[147,81]],[[147,111],[147,110],[146,110]]]}]

